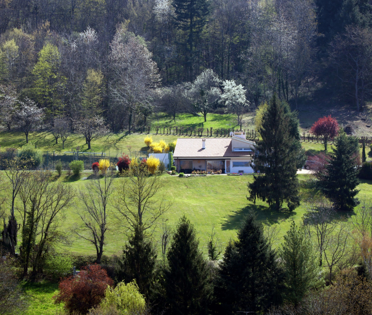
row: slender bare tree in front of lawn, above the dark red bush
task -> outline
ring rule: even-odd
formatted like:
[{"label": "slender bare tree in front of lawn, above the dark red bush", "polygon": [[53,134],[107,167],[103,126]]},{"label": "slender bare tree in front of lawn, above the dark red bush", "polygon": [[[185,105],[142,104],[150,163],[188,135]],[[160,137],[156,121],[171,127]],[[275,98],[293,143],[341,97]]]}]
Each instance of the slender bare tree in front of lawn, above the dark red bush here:
[{"label": "slender bare tree in front of lawn, above the dark red bush", "polygon": [[84,209],[77,212],[82,224],[75,228],[75,233],[94,245],[97,253],[96,263],[101,263],[105,233],[108,230],[108,206],[113,193],[114,178],[107,173],[100,178],[95,175],[86,189],[80,191]]}]

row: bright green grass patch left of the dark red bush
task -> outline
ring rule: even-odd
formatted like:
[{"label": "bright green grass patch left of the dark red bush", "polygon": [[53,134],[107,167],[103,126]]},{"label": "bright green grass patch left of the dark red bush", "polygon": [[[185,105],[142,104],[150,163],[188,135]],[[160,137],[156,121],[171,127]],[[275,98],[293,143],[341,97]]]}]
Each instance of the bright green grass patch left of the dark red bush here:
[{"label": "bright green grass patch left of the dark red bush", "polygon": [[58,293],[58,283],[24,283],[23,289],[30,298],[30,306],[26,315],[56,315],[62,306],[56,305],[52,297]]}]

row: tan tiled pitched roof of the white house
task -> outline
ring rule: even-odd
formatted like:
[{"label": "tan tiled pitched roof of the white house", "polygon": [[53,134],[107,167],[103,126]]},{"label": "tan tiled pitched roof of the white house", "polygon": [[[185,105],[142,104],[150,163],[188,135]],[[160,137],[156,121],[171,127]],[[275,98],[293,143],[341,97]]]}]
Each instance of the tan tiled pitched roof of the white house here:
[{"label": "tan tiled pitched roof of the white house", "polygon": [[173,157],[177,158],[246,158],[253,152],[233,152],[231,138],[206,138],[202,149],[202,138],[178,138]]}]

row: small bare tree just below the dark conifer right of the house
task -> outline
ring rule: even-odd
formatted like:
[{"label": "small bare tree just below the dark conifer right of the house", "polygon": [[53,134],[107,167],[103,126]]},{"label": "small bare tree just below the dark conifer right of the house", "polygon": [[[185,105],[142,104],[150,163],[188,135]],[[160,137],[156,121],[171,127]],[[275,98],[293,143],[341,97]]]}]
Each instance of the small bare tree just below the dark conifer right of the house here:
[{"label": "small bare tree just below the dark conifer right of the house", "polygon": [[311,200],[307,204],[307,212],[304,215],[304,225],[309,233],[315,235],[319,250],[319,264],[323,265],[323,254],[330,242],[330,238],[337,227],[334,221],[335,211],[328,200]]}]

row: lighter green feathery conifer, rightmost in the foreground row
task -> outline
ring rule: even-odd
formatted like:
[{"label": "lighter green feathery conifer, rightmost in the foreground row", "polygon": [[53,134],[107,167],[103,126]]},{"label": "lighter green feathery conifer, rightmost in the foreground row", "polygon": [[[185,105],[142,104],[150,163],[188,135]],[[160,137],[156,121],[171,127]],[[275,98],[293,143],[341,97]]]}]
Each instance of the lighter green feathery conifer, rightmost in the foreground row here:
[{"label": "lighter green feathery conifer, rightmost in the foreground row", "polygon": [[295,307],[310,290],[322,285],[321,268],[305,229],[293,221],[279,250],[285,271],[285,299]]}]

